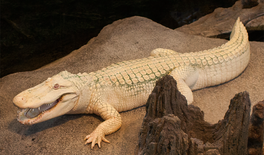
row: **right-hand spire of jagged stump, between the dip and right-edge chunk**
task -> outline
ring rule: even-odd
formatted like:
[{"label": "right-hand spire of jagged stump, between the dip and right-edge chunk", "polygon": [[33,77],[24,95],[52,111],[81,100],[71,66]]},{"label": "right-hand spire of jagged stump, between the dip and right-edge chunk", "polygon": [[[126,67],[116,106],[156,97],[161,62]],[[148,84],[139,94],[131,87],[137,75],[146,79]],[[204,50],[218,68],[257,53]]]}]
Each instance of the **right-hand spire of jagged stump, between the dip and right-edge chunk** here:
[{"label": "right-hand spire of jagged stump, between the dip and right-edge chunk", "polygon": [[214,144],[225,155],[246,155],[248,125],[250,120],[250,99],[247,91],[240,92],[231,99],[224,119],[217,123]]}]

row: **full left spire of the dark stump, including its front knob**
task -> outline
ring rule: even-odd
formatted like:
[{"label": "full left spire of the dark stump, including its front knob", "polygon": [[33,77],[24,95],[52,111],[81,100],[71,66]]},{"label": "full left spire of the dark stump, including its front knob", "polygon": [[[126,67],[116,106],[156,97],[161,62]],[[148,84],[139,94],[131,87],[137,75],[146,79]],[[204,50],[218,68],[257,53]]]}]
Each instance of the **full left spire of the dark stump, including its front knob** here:
[{"label": "full left spire of the dark stump, including its front knob", "polygon": [[[140,147],[135,152],[142,155],[187,154],[187,114],[187,101],[178,91],[176,81],[171,76],[164,76],[162,80],[158,80],[146,103],[146,115],[140,129],[138,142]],[[164,125],[172,124],[164,123],[169,121],[173,122],[172,127],[165,127]],[[157,129],[156,126],[159,126],[159,130],[154,130]],[[170,135],[167,137],[169,139],[165,141],[163,140],[166,139],[163,137],[165,131],[170,134],[174,132],[177,135]],[[177,141],[177,143],[172,143],[172,141]]]}]

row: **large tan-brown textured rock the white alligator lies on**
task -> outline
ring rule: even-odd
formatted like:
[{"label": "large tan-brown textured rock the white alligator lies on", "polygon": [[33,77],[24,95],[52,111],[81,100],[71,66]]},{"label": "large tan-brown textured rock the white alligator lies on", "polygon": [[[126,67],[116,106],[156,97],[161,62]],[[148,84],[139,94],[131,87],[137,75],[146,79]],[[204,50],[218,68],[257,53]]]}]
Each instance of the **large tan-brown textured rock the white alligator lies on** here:
[{"label": "large tan-brown textured rock the white alligator lies on", "polygon": [[[42,69],[14,73],[0,79],[0,154],[134,154],[145,107],[122,112],[122,127],[108,135],[111,142],[101,149],[84,145],[83,138],[103,120],[97,115],[63,115],[32,126],[19,124],[12,99],[63,70],[92,72],[123,60],[148,57],[155,48],[195,52],[227,42],[186,35],[143,17],[118,20],[104,27],[87,45]],[[237,78],[224,84],[194,91],[194,105],[204,111],[205,120],[217,122],[228,109],[230,98],[241,91],[250,93],[252,103],[263,100],[264,43],[250,42],[250,62]],[[228,91],[226,91],[228,90]]]}]

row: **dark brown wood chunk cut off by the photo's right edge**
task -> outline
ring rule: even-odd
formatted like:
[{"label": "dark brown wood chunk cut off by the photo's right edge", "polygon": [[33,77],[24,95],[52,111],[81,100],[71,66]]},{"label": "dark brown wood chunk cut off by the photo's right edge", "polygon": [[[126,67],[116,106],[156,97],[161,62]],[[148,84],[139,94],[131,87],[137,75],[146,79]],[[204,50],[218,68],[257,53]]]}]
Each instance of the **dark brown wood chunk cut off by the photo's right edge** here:
[{"label": "dark brown wood chunk cut off by the photo's right edge", "polygon": [[253,106],[248,129],[247,150],[249,155],[263,155],[264,100]]}]

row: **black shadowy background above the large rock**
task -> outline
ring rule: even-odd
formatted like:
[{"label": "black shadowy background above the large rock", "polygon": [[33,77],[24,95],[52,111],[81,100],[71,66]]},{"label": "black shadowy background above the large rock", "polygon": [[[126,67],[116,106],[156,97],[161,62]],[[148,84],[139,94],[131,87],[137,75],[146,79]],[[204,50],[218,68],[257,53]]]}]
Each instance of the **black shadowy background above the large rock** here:
[{"label": "black shadowy background above the large rock", "polygon": [[64,57],[119,19],[142,16],[176,29],[234,4],[235,0],[2,0],[0,78]]}]

